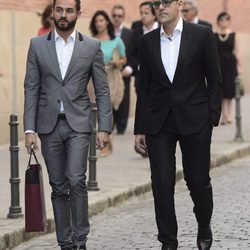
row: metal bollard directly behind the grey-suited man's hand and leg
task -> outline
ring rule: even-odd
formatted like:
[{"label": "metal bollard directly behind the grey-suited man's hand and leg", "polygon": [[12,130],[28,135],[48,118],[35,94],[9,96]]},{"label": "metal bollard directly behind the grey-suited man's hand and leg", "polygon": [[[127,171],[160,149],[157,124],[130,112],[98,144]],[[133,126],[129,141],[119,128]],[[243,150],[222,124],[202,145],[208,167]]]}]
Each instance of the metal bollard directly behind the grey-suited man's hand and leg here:
[{"label": "metal bollard directly behind the grey-suited man's hand and leg", "polygon": [[97,106],[96,103],[91,103],[91,125],[92,132],[90,138],[90,149],[89,149],[89,179],[88,179],[88,191],[98,191],[98,183],[96,181],[96,117],[97,117]]}]

